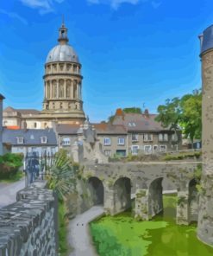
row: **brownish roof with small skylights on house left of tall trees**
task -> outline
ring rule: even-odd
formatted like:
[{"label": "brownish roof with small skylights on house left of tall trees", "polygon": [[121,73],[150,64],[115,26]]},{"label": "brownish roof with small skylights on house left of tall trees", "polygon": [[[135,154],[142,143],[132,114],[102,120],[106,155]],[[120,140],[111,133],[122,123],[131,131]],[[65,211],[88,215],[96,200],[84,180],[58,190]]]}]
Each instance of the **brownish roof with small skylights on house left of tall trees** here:
[{"label": "brownish roof with small skylights on house left of tall trees", "polygon": [[168,131],[162,127],[159,122],[155,121],[155,114],[123,113],[116,115],[113,125],[124,125],[127,131]]}]

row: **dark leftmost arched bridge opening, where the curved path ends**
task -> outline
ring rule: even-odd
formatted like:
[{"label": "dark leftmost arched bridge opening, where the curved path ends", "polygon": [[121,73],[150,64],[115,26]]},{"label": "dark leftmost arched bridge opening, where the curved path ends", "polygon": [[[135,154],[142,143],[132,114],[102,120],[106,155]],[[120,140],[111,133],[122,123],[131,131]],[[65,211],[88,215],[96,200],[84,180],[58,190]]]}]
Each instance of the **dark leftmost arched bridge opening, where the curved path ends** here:
[{"label": "dark leftmost arched bridge opening, where the curved path ends", "polygon": [[103,205],[103,182],[97,177],[90,177],[88,180],[88,187],[91,192],[93,205]]}]

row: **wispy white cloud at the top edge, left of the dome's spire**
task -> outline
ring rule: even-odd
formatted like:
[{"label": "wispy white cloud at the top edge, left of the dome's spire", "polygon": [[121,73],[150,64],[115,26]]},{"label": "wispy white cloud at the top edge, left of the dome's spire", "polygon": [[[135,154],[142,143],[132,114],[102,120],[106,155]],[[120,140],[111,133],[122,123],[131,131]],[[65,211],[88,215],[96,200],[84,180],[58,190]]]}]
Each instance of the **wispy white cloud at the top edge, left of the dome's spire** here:
[{"label": "wispy white cloud at the top edge, left of the dome's spire", "polygon": [[38,9],[41,14],[54,11],[54,3],[62,3],[64,0],[20,0],[24,5]]}]

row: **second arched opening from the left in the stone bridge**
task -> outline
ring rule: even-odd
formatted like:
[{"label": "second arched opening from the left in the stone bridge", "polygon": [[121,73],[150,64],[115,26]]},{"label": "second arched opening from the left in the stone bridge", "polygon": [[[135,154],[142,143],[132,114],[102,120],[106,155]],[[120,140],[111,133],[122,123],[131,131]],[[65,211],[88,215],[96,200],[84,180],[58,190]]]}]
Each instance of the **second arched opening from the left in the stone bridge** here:
[{"label": "second arched opening from the left in the stone bridge", "polygon": [[131,181],[128,177],[116,180],[114,184],[114,212],[122,212],[131,207]]}]

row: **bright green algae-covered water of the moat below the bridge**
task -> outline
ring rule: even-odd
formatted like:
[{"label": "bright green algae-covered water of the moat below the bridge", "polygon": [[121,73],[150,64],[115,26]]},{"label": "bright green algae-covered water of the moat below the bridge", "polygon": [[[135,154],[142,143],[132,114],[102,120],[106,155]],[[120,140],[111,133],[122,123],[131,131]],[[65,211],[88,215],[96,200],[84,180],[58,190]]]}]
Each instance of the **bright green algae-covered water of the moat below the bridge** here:
[{"label": "bright green algae-covered water of the moat below the bridge", "polygon": [[212,256],[213,248],[197,240],[196,224],[177,226],[176,196],[164,196],[164,214],[135,221],[131,212],[104,216],[91,223],[100,256]]}]

